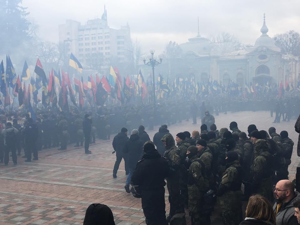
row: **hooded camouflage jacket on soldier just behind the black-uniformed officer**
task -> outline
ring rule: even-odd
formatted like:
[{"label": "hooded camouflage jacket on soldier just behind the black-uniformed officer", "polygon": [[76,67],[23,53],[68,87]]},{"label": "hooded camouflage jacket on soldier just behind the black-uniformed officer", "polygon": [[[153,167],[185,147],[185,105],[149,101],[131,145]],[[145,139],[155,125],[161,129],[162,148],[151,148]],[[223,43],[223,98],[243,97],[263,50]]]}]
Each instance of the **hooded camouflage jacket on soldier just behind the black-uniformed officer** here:
[{"label": "hooded camouflage jacket on soldier just behind the black-uniformed officer", "polygon": [[166,134],[161,139],[166,142],[166,151],[163,153],[163,157],[168,160],[169,166],[172,171],[178,171],[180,165],[180,154],[179,149],[175,146],[174,138],[171,134]]}]

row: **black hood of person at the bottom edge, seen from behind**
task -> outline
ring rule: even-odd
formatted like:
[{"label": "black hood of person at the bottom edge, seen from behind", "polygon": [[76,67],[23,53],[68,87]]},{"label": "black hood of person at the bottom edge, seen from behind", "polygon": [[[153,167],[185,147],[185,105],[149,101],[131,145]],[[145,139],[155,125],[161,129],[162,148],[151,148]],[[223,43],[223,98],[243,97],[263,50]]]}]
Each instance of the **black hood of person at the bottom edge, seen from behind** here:
[{"label": "black hood of person at the bottom edge, seen from behind", "polygon": [[107,206],[100,203],[91,204],[85,212],[83,225],[115,225],[113,212]]}]

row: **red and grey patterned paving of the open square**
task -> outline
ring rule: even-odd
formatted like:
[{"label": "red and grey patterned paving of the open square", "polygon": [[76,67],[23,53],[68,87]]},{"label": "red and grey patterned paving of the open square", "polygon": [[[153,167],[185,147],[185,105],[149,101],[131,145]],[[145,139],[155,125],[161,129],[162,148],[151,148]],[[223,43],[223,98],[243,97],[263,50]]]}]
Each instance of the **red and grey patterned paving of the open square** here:
[{"label": "red and grey patterned paving of the open square", "polygon": [[[247,131],[247,126],[252,123],[259,130],[267,130],[274,125],[277,133],[287,130],[295,143],[289,167],[290,177],[294,178],[299,164],[294,118],[290,122],[275,124],[268,112],[228,113],[215,118],[218,129],[229,127],[231,121],[236,121],[242,131]],[[185,130],[200,130],[200,124],[191,123],[190,120],[171,125],[170,132],[175,136]],[[155,130],[147,132],[152,138],[157,131],[158,127],[155,127]],[[118,178],[112,177],[115,161],[112,139],[97,140],[90,146],[93,154],[88,155],[84,154],[83,148],[71,146],[68,145],[66,151],[49,149],[39,152],[39,160],[31,163],[18,157],[17,166],[12,165],[11,158],[8,166],[0,164],[0,224],[82,224],[85,210],[91,203],[108,205],[118,225],[145,224],[141,200],[124,190],[126,176],[123,162]],[[169,204],[166,211],[169,211]],[[212,223],[218,224],[218,218],[218,215],[213,215]]]}]

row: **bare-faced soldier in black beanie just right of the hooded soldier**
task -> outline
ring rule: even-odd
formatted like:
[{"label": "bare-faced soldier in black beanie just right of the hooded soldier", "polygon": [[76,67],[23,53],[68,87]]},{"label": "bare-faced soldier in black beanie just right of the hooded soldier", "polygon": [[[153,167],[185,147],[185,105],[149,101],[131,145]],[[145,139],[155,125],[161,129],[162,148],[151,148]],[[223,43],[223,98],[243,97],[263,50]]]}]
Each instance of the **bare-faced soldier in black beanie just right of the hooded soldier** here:
[{"label": "bare-faced soldier in black beanie just right of the hooded soldier", "polygon": [[[190,147],[190,143],[185,140],[186,136],[183,132],[176,134],[175,141],[179,150],[180,164],[184,164],[187,157],[187,148]],[[187,171],[185,169],[179,169],[179,189],[182,194],[181,204],[187,208],[188,195],[187,195],[187,183],[185,178],[187,177]]]}]

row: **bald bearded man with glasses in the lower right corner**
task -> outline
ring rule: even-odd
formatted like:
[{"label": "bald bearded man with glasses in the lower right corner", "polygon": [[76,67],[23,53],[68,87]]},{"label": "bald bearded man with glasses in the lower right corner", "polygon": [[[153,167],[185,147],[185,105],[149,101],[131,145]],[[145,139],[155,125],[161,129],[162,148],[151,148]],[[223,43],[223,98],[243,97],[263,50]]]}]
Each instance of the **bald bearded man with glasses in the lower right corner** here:
[{"label": "bald bearded man with glasses in the lower right corner", "polygon": [[276,202],[273,209],[276,214],[277,225],[298,224],[294,202],[300,199],[299,192],[295,192],[294,184],[289,180],[280,180],[273,188]]}]

